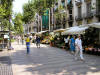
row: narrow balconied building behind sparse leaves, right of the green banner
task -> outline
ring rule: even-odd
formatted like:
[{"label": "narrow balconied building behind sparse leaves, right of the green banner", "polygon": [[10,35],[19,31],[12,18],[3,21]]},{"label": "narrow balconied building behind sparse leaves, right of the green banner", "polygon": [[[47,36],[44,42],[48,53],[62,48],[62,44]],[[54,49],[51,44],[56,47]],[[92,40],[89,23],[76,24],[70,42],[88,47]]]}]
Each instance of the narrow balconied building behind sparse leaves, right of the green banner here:
[{"label": "narrow balconied building behind sparse leaves, right of the green banner", "polygon": [[53,12],[51,13],[53,13],[53,30],[66,28],[66,0],[58,0],[55,2]]}]

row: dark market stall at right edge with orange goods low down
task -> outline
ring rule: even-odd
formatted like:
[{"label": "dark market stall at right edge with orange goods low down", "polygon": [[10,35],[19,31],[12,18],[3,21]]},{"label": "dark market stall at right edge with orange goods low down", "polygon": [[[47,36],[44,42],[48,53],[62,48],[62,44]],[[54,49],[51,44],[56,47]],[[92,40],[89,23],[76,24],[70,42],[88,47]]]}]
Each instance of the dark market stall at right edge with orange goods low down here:
[{"label": "dark market stall at right edge with orange goods low down", "polygon": [[100,55],[100,23],[88,24],[90,28],[85,34],[85,51],[87,53]]}]

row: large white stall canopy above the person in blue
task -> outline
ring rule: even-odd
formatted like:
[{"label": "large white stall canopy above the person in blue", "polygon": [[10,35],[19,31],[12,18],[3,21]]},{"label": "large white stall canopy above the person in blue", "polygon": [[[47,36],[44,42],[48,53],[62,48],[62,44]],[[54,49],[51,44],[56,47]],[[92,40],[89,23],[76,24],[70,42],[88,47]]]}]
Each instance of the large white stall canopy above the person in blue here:
[{"label": "large white stall canopy above the person in blue", "polygon": [[62,32],[62,35],[84,34],[85,30],[88,28],[89,28],[88,26],[84,26],[84,25],[70,27],[70,28],[67,28],[66,31]]}]

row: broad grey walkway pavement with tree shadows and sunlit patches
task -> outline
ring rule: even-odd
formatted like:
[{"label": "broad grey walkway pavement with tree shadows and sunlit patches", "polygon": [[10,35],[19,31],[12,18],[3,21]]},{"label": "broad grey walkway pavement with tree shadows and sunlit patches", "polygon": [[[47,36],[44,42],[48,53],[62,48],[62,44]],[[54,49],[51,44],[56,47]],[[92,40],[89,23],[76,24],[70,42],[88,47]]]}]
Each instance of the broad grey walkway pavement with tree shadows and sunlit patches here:
[{"label": "broad grey walkway pavement with tree shadows and sunlit patches", "polygon": [[25,45],[13,44],[10,51],[13,75],[100,75],[100,56],[84,55],[85,62],[75,60],[63,49],[31,45],[26,54]]}]

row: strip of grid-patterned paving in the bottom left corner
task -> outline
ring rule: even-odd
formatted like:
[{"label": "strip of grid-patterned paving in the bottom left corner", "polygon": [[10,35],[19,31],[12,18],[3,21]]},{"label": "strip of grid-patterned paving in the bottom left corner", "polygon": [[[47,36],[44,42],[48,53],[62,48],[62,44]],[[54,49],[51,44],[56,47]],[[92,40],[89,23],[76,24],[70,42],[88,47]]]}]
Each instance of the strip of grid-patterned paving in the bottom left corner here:
[{"label": "strip of grid-patterned paving in the bottom left corner", "polygon": [[0,52],[0,75],[13,75],[8,51]]}]

